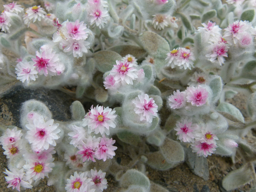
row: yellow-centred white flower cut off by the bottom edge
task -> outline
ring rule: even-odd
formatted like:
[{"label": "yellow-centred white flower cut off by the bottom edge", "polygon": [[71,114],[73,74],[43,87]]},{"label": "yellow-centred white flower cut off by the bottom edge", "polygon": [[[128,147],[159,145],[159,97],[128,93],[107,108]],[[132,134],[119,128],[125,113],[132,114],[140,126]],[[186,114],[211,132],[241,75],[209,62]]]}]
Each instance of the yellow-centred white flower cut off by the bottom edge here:
[{"label": "yellow-centred white flower cut off by the bottom edge", "polygon": [[67,192],[93,192],[94,190],[90,189],[90,187],[94,184],[91,178],[88,178],[87,172],[75,172],[74,176],[71,175],[69,179],[67,179],[67,184],[65,189]]}]

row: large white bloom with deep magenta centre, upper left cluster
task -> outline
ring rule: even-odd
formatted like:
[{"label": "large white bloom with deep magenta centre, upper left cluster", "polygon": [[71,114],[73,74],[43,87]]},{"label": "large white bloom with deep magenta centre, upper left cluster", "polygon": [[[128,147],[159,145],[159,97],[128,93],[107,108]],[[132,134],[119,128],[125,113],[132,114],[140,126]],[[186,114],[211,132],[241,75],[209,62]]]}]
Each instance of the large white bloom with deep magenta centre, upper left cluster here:
[{"label": "large white bloom with deep magenta centre, upper left cluster", "polygon": [[47,49],[47,46],[42,46],[40,48],[40,53],[36,51],[36,58],[32,58],[32,60],[40,75],[56,75],[55,68],[59,61],[59,54],[55,54],[55,51],[53,52],[52,48]]}]

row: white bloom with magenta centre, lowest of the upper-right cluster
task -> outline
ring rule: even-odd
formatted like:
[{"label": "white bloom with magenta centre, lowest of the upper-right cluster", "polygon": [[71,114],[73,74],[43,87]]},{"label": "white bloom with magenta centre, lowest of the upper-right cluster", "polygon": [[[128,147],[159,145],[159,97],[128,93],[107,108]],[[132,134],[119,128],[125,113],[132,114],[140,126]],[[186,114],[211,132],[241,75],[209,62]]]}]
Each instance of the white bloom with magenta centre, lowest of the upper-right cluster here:
[{"label": "white bloom with magenta centre, lowest of the upper-right cluster", "polygon": [[227,57],[228,47],[226,44],[214,44],[212,45],[212,53],[206,54],[205,56],[208,57],[208,60],[211,62],[215,62],[218,60],[220,66],[224,63],[224,57]]}]

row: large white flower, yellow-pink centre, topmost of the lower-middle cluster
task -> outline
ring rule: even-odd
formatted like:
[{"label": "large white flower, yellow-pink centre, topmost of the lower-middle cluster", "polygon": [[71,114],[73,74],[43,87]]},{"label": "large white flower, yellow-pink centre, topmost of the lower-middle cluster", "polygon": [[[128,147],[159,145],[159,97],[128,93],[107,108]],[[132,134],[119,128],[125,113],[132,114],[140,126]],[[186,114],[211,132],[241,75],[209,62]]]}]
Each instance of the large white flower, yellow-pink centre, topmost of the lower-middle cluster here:
[{"label": "large white flower, yellow-pink centre, topmost of the lower-middle cluster", "polygon": [[[93,106],[92,106],[93,107]],[[103,135],[110,134],[110,127],[115,128],[115,119],[117,115],[115,110],[112,111],[109,107],[103,108],[103,106],[97,105],[96,108],[91,108],[90,115],[88,115],[88,132],[100,133]]]}]

